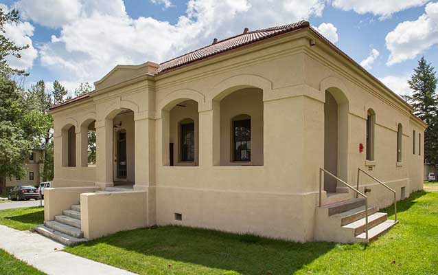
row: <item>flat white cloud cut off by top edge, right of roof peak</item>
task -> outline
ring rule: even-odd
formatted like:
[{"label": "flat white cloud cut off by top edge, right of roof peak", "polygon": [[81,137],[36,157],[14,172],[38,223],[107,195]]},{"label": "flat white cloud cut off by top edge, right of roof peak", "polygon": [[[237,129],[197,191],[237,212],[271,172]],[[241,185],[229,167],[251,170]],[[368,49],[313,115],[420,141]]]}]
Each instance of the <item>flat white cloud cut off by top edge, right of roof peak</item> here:
[{"label": "flat white cloud cut off by top edge, right of roof peak", "polygon": [[354,10],[358,14],[371,13],[380,20],[387,19],[395,12],[424,5],[429,0],[334,0],[332,5],[341,10]]}]

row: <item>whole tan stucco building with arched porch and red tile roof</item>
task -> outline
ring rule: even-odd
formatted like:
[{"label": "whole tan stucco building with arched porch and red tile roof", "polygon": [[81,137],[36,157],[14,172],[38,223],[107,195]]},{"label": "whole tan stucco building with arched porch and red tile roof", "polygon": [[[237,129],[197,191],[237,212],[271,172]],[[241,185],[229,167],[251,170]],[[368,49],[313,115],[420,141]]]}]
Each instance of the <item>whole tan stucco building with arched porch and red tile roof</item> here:
[{"label": "whole tan stucco building with arched porch and red tile roof", "polygon": [[[177,224],[354,241],[363,225],[332,234],[337,221],[320,210],[342,213],[356,193],[325,173],[319,207],[320,168],[355,188],[361,168],[397,199],[422,189],[426,124],[412,111],[306,21],[246,29],[161,64],[118,65],[95,91],[51,109],[55,188],[45,218],[80,201],[86,239]],[[87,131],[96,132],[95,166]],[[363,174],[358,190],[365,187],[376,211],[393,203]],[[363,200],[347,210],[360,207]],[[369,219],[369,228],[383,221]]]}]

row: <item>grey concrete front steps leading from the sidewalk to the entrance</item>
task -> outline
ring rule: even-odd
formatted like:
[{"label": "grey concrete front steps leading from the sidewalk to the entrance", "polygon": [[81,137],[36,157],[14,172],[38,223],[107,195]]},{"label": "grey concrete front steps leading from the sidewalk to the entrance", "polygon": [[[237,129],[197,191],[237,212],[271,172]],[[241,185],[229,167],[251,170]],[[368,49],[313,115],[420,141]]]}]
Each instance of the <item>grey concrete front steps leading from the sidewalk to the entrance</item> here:
[{"label": "grey concrete front steps leading from the sidewalk to the entrance", "polygon": [[54,221],[45,221],[35,230],[63,245],[72,246],[87,241],[80,230],[80,205],[71,206],[71,209],[62,211],[62,215],[55,216]]}]

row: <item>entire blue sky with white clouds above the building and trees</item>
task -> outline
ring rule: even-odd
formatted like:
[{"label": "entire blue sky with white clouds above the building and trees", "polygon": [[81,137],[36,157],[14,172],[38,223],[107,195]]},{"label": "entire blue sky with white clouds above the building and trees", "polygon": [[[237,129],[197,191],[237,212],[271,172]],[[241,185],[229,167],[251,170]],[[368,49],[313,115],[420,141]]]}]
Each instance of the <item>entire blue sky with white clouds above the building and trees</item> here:
[{"label": "entire blue sky with white clouds above the building and trees", "polygon": [[397,94],[419,56],[438,67],[438,1],[427,0],[1,0],[21,11],[7,28],[30,44],[15,67],[29,86],[60,80],[73,92],[117,64],[162,62],[245,27],[310,21]]}]

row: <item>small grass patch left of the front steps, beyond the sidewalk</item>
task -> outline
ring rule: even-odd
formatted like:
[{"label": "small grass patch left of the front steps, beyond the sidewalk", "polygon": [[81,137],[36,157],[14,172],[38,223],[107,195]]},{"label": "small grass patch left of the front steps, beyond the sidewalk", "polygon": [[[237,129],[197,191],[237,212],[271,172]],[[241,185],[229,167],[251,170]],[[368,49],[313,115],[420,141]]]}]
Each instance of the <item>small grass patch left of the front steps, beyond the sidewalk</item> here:
[{"label": "small grass patch left of the front steps, beyond the sidewalk", "polygon": [[0,224],[16,230],[30,230],[43,222],[44,207],[38,206],[0,210]]}]

